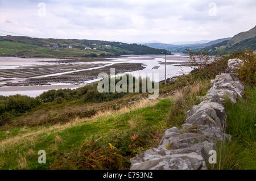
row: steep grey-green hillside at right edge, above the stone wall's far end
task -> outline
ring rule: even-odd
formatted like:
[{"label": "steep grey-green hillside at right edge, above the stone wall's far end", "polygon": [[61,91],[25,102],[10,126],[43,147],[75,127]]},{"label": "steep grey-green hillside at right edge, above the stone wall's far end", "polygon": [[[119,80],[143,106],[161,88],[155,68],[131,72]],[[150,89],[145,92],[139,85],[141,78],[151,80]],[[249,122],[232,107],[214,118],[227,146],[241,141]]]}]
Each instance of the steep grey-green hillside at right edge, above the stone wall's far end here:
[{"label": "steep grey-green hillside at right edge, above the stone wall's far end", "polygon": [[209,45],[204,49],[212,54],[233,53],[237,50],[250,48],[256,50],[256,26],[249,31],[238,33],[230,40]]}]

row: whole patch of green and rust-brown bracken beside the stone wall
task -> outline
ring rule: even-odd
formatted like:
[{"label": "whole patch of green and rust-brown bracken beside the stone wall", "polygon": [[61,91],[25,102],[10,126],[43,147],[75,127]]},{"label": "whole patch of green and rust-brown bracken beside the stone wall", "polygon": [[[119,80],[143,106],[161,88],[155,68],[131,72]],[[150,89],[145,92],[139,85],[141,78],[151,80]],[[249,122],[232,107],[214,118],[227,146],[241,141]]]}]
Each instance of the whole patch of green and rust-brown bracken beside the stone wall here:
[{"label": "whole patch of green and rust-brown bracken beside the stone wall", "polygon": [[49,169],[129,169],[129,159],[152,146],[156,137],[160,137],[159,132],[150,127],[115,130],[107,137],[93,137],[80,148],[61,155]]}]

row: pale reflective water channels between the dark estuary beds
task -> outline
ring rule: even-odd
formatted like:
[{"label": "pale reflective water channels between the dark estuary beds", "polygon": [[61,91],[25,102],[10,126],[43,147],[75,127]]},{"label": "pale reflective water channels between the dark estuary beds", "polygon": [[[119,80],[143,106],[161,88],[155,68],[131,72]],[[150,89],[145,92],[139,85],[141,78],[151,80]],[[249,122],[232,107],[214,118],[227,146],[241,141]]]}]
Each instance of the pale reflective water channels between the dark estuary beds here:
[{"label": "pale reflective water channels between the dark estuary beds", "polygon": [[[144,64],[144,69],[137,70],[137,71],[130,71],[129,73],[138,73],[144,77],[147,73],[158,73],[159,79],[154,81],[162,81],[164,79],[164,55],[128,55],[122,56],[118,58],[106,58],[108,61],[91,61],[86,62],[86,64],[99,64],[96,68],[89,68],[89,69],[98,69],[104,66],[109,66],[113,64],[120,64],[120,63],[142,63]],[[52,61],[52,62],[51,62]],[[32,65],[55,65],[57,64],[56,61],[61,61],[60,59],[56,58],[18,58],[18,57],[0,57],[0,71],[3,69],[17,69],[17,68],[24,68],[26,66]],[[188,55],[182,53],[175,53],[172,55],[166,56],[166,72],[167,78],[172,78],[177,75],[188,74],[193,68],[190,66],[182,66],[183,63],[188,62]],[[72,63],[73,64],[73,63]],[[76,62],[75,64],[84,64],[84,62]],[[102,65],[103,64],[103,65]],[[89,70],[88,69],[88,70]],[[82,69],[87,70],[87,69]],[[73,71],[82,71],[82,70],[73,70]],[[70,71],[58,73],[60,74],[67,74]],[[142,74],[144,73],[144,74]],[[42,75],[39,77],[47,77],[52,76],[53,74]],[[38,77],[32,77],[38,78]],[[51,85],[44,85],[44,86],[2,86],[5,82],[18,82],[23,81],[23,79],[19,78],[12,78],[11,80],[1,81],[5,79],[4,77],[0,77],[0,95],[28,95],[28,96],[38,96],[42,94],[44,91],[52,90],[52,89],[76,89],[78,87],[82,87],[87,83],[91,83],[94,81],[98,81],[99,79],[92,79],[90,81],[85,81],[80,85],[72,85],[69,83],[51,83]]]}]

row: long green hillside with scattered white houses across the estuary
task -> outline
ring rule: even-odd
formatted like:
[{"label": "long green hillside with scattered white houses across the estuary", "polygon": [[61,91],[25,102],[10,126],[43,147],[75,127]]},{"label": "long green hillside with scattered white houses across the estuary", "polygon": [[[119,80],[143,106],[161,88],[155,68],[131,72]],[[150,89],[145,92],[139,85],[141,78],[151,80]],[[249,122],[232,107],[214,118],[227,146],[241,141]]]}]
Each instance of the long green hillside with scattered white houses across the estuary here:
[{"label": "long green hillside with scattered white houses across the estuary", "polygon": [[[52,49],[52,46],[59,49]],[[72,49],[67,48],[72,46]],[[91,49],[85,50],[85,47]],[[96,48],[96,49],[93,49]],[[0,55],[18,57],[84,57],[120,54],[162,54],[164,49],[115,41],[78,39],[39,39],[27,36],[0,36]]]}]

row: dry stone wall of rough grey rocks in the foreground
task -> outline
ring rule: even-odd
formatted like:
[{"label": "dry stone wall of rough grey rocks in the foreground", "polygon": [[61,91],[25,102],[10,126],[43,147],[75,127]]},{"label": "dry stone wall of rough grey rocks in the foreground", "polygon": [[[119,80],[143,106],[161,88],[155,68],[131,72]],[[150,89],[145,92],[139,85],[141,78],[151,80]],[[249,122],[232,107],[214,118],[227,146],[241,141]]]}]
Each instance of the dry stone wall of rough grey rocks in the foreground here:
[{"label": "dry stone wall of rough grey rocks in the foreground", "polygon": [[[236,60],[237,61],[237,60]],[[229,72],[234,72],[233,59]],[[209,150],[217,141],[231,138],[225,133],[226,113],[222,103],[243,95],[243,85],[232,74],[217,75],[203,101],[187,111],[181,129],[167,129],[158,148],[152,148],[131,158],[131,169],[207,169]]]}]

